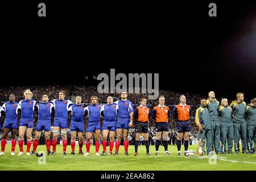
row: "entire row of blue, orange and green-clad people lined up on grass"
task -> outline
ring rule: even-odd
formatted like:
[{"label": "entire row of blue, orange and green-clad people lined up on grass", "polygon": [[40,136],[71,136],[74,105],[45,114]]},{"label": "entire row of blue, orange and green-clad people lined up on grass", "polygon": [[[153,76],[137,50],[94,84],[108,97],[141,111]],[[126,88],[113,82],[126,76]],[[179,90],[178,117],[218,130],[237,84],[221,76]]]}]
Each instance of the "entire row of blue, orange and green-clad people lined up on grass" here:
[{"label": "entire row of blue, orange and green-clad people lined up on grass", "polygon": [[[141,105],[133,109],[133,104],[127,100],[127,93],[122,92],[122,100],[116,101],[113,103],[113,98],[108,97],[108,104],[104,106],[97,105],[98,98],[93,96],[91,98],[92,104],[85,107],[84,104],[81,104],[82,98],[80,96],[76,97],[76,103],[73,104],[71,101],[64,100],[65,92],[61,90],[59,92],[59,100],[48,101],[48,96],[43,95],[42,101],[36,102],[31,100],[32,92],[26,90],[24,92],[25,100],[22,100],[18,103],[15,102],[15,97],[13,94],[9,97],[9,102],[4,104],[1,109],[1,113],[6,113],[6,120],[3,126],[3,139],[1,142],[1,155],[5,154],[5,144],[6,137],[9,131],[12,133],[12,150],[11,155],[15,155],[15,133],[18,129],[18,120],[17,115],[19,109],[21,109],[21,119],[19,126],[19,148],[20,152],[18,155],[23,155],[23,135],[24,131],[27,130],[27,151],[26,154],[30,155],[30,146],[31,146],[31,132],[33,127],[33,113],[34,111],[38,112],[38,123],[36,125],[35,139],[33,143],[32,154],[35,154],[36,147],[39,143],[39,138],[42,133],[42,130],[45,132],[46,136],[46,147],[47,155],[56,155],[56,145],[57,137],[59,131],[61,131],[61,137],[63,140],[63,155],[66,154],[67,148],[67,128],[68,128],[68,111],[72,113],[71,121],[71,155],[75,155],[75,139],[78,132],[79,135],[79,154],[82,154],[82,145],[83,145],[83,134],[84,134],[84,116],[89,115],[87,127],[86,127],[86,154],[90,154],[90,141],[92,134],[94,133],[94,139],[96,140],[96,155],[100,148],[100,117],[104,117],[104,123],[102,126],[102,146],[103,152],[102,155],[106,155],[106,145],[107,137],[109,134],[110,143],[109,143],[109,155],[112,155],[113,146],[114,146],[114,135],[117,135],[117,140],[115,141],[115,155],[118,155],[119,146],[121,143],[121,137],[123,132],[124,139],[124,148],[125,155],[128,155],[128,133],[129,127],[133,126],[133,119],[135,120],[135,154],[138,155],[138,141],[141,133],[144,134],[145,146],[146,146],[146,155],[150,155],[149,152],[149,143],[148,143],[148,121],[150,119],[150,109],[146,107],[147,100],[146,98],[141,99]],[[155,106],[152,110],[153,119],[155,121],[156,127],[156,140],[155,140],[155,155],[159,155],[159,146],[160,139],[163,138],[164,154],[170,155],[168,153],[168,122],[171,121],[171,111],[168,106],[164,105],[164,97],[159,97],[159,105]],[[180,104],[174,107],[172,111],[172,116],[176,121],[176,131],[177,131],[177,150],[178,155],[181,155],[181,139],[184,137],[184,148],[185,151],[188,150],[188,140],[189,140],[189,131],[191,131],[191,124],[189,119],[192,116],[191,107],[186,105],[186,99],[184,95],[180,96]],[[243,152],[246,151],[246,140],[244,143],[243,139],[246,139],[246,131],[240,129],[245,125],[245,119],[247,118],[247,129],[248,131],[248,150],[252,153],[254,152],[253,148],[253,139],[255,142],[255,106],[256,98],[251,101],[251,104],[246,107],[245,102],[243,102],[243,94],[237,94],[237,101],[233,101],[228,106],[228,100],[223,99],[221,106],[218,101],[215,99],[214,92],[209,93],[208,100],[201,100],[201,106],[196,110],[196,124],[199,127],[199,138],[206,140],[207,145],[207,154],[212,154],[215,150],[217,154],[226,153],[226,142],[222,142],[220,148],[220,133],[222,141],[226,141],[228,138],[228,152],[232,153],[233,145],[233,133],[234,128],[234,143],[235,151],[239,152],[239,138],[243,141]],[[55,110],[55,120],[53,123],[53,139],[52,139],[52,149],[51,140],[49,139],[50,130],[51,130],[51,114],[52,110]],[[117,117],[118,116],[118,117]],[[242,123],[240,120],[242,119]],[[117,121],[117,122],[116,122]],[[248,122],[249,121],[249,122]],[[234,122],[234,124],[233,124]],[[249,124],[248,124],[249,123]],[[220,127],[221,125],[221,127]],[[221,131],[221,132],[220,132]],[[244,135],[245,134],[245,135]],[[232,142],[231,142],[232,141]],[[245,145],[245,146],[244,146]]]}]

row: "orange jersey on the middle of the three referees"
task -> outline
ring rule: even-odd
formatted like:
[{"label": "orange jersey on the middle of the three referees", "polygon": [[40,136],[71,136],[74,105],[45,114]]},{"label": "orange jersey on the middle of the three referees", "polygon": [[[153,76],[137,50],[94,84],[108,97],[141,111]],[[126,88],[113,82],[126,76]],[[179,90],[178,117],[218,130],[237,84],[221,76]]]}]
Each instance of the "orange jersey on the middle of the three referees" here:
[{"label": "orange jersey on the middle of the three referees", "polygon": [[168,118],[171,116],[171,112],[168,106],[159,107],[155,106],[152,110],[155,122],[168,122]]}]

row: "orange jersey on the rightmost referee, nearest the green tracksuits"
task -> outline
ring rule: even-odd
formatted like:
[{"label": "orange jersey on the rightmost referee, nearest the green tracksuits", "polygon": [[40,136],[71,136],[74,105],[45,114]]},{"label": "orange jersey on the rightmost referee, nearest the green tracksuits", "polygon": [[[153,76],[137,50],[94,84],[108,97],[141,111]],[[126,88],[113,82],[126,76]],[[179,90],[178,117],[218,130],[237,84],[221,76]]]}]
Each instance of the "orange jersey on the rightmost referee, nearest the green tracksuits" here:
[{"label": "orange jersey on the rightmost referee, nearest the green tracksuits", "polygon": [[192,115],[191,107],[189,105],[183,107],[178,104],[174,107],[173,114],[177,121],[188,121]]}]

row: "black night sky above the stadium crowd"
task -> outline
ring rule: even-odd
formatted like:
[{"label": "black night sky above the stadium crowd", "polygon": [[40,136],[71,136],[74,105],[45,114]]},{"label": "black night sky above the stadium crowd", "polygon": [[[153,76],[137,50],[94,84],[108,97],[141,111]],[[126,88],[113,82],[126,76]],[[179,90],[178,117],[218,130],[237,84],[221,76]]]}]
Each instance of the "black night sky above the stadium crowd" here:
[{"label": "black night sky above the stadium crowd", "polygon": [[[115,68],[159,73],[162,89],[256,97],[254,1],[42,2],[44,19],[36,1],[6,6],[2,85],[82,84],[84,75]],[[208,16],[210,2],[217,17]]]}]

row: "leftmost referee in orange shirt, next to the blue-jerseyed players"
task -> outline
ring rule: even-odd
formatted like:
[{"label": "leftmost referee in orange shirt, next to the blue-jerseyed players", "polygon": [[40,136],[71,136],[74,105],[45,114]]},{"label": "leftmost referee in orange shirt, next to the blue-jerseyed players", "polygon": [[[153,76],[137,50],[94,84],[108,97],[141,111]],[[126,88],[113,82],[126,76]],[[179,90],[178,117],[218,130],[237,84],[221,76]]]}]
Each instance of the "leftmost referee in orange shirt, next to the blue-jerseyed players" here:
[{"label": "leftmost referee in orange shirt, next to the blue-jerseyed players", "polygon": [[135,141],[134,141],[134,146],[135,146],[135,153],[134,155],[138,155],[138,146],[139,146],[139,137],[143,133],[144,140],[145,140],[145,146],[147,153],[146,155],[150,155],[149,151],[149,142],[148,142],[148,121],[150,118],[150,109],[146,106],[147,105],[147,99],[146,98],[141,98],[141,105],[136,107],[134,109],[134,121],[135,122]]}]

